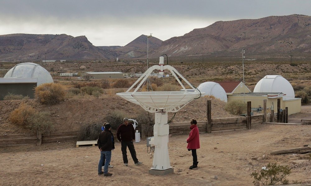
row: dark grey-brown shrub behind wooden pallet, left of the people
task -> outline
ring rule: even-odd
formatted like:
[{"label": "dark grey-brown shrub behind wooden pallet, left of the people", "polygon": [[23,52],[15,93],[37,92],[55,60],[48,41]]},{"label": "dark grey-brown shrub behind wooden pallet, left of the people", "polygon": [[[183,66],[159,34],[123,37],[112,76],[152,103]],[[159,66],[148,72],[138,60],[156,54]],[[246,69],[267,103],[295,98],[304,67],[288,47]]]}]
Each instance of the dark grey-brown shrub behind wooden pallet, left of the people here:
[{"label": "dark grey-brown shrub behind wooden pallet, left of the people", "polygon": [[78,140],[80,141],[96,140],[101,132],[102,126],[103,124],[100,122],[82,125],[78,132]]}]

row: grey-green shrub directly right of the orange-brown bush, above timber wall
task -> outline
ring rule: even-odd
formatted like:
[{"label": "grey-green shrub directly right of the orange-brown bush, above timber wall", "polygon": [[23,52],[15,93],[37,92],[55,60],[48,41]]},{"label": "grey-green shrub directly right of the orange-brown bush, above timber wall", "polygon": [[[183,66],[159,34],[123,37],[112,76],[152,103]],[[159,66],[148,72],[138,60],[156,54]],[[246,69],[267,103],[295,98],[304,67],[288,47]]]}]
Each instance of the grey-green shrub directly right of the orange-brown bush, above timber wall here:
[{"label": "grey-green shrub directly right of the orange-brown bush, above timber wall", "polygon": [[37,131],[41,132],[42,134],[50,134],[53,131],[54,126],[48,118],[49,113],[37,112],[27,119],[27,127],[29,127],[34,134],[36,134]]}]

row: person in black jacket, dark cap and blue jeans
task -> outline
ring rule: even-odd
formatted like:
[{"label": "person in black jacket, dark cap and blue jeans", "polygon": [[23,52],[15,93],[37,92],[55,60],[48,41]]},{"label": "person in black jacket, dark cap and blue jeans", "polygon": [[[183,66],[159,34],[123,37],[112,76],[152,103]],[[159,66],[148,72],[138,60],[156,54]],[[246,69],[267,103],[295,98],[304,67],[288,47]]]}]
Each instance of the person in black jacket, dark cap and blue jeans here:
[{"label": "person in black jacket, dark cap and blue jeans", "polygon": [[[98,175],[111,176],[112,173],[108,172],[108,165],[111,160],[111,150],[114,148],[112,141],[112,132],[110,131],[110,124],[105,125],[105,130],[102,131],[97,140],[97,145],[100,150],[100,161],[98,163]],[[103,162],[105,161],[104,172],[101,170]]]}]

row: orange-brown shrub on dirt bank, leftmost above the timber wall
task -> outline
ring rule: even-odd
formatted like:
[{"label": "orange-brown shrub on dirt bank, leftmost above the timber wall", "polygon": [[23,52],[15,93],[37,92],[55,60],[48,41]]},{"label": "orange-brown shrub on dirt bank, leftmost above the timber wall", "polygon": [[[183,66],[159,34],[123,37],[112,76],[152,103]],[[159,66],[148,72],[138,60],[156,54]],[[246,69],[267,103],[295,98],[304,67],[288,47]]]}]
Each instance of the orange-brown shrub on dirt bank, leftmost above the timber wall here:
[{"label": "orange-brown shrub on dirt bank, leftmost above the timber wall", "polygon": [[22,103],[18,108],[11,112],[9,120],[12,124],[26,127],[28,119],[33,115],[35,115],[35,109],[30,105]]}]

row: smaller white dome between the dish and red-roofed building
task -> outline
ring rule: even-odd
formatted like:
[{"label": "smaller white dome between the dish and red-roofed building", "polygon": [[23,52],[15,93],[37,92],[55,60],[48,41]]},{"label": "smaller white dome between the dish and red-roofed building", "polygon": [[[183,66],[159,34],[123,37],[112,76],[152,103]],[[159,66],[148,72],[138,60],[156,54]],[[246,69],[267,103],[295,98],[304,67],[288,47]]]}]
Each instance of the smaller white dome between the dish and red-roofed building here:
[{"label": "smaller white dome between the dish and red-roofed building", "polygon": [[[199,89],[199,91],[201,92],[205,92],[204,95],[213,95],[216,98],[228,102],[227,100],[227,94],[224,88],[222,88],[222,86],[220,86],[219,83],[216,82],[204,82],[201,83],[197,89]],[[202,95],[202,96],[204,96]]]}]

